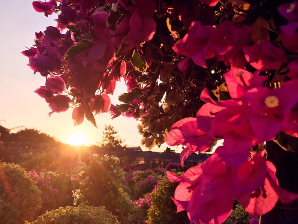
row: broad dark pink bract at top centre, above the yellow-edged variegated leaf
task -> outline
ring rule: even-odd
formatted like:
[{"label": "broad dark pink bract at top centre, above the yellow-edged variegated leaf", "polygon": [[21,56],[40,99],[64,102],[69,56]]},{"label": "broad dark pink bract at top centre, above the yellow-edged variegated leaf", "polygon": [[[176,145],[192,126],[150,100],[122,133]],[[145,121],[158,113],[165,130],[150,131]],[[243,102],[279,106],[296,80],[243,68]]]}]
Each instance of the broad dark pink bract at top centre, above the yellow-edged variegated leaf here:
[{"label": "broad dark pink bract at top centre, above the yellow-edged variegated leaf", "polygon": [[133,12],[129,21],[129,38],[136,41],[149,41],[153,38],[156,23],[153,18],[142,18],[138,12]]}]

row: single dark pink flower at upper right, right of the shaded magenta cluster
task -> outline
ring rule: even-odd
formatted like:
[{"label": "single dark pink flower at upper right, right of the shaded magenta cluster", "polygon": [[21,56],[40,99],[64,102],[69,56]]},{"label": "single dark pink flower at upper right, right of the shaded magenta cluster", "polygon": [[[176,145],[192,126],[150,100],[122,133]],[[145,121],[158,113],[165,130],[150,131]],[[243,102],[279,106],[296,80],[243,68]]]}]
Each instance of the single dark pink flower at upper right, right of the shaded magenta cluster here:
[{"label": "single dark pink flower at upper right, right of the shaded magenta cluster", "polygon": [[264,40],[259,44],[244,47],[243,52],[251,66],[261,71],[278,69],[286,62],[284,51]]}]

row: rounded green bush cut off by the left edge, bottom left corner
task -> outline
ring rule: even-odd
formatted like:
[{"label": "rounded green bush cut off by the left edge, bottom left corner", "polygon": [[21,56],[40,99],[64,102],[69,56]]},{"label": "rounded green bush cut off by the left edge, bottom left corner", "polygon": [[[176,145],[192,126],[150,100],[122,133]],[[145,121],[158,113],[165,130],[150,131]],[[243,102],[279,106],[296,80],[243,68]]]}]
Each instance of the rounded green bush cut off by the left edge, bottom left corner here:
[{"label": "rounded green bush cut off by the left edge, bottom left corner", "polygon": [[41,191],[28,173],[19,165],[0,163],[0,223],[34,220],[41,206]]}]

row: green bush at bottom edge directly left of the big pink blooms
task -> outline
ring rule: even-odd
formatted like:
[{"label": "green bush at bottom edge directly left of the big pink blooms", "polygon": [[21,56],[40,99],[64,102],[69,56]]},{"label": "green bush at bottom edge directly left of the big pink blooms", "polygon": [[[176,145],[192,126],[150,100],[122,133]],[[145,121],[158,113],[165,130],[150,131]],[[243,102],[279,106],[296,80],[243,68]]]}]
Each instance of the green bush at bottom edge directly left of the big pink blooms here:
[{"label": "green bush at bottom edge directly left of the big pink blooms", "polygon": [[152,193],[148,194],[151,206],[148,209],[146,224],[190,223],[185,211],[176,213],[176,205],[171,199],[177,185],[178,183],[171,183],[168,177],[164,176]]}]

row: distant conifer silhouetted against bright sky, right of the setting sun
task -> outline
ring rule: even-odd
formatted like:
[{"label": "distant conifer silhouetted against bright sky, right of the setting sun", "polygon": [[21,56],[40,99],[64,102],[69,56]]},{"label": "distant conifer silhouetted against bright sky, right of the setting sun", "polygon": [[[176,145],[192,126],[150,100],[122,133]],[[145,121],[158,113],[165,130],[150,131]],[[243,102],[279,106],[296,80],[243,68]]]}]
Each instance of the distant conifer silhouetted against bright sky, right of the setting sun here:
[{"label": "distant conifer silhouetted against bright sky, right of the setting sun", "polygon": [[105,148],[115,148],[117,150],[123,149],[126,145],[124,144],[124,141],[119,138],[117,133],[118,131],[115,131],[113,126],[105,125],[100,146]]}]

